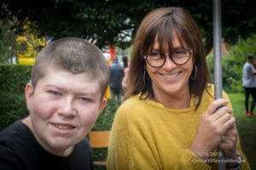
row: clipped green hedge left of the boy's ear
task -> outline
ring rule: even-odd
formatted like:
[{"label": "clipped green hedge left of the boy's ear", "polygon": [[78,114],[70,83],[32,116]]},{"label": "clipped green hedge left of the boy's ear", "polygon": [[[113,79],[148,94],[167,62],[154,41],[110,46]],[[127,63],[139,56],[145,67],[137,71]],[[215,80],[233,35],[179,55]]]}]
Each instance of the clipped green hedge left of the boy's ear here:
[{"label": "clipped green hedge left of the boy's ear", "polygon": [[0,130],[28,115],[24,89],[32,66],[0,65]]}]

